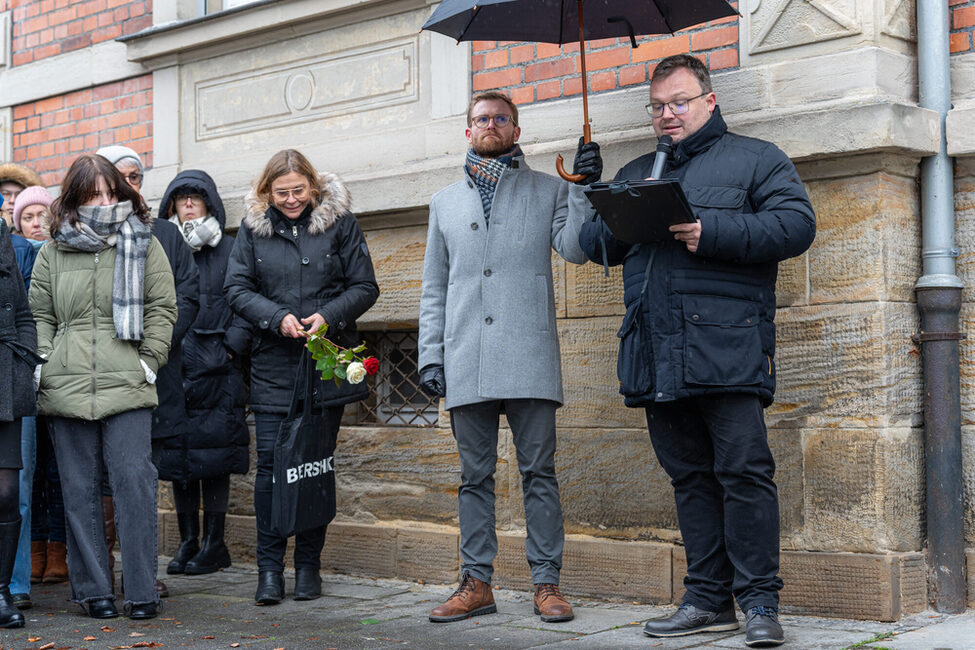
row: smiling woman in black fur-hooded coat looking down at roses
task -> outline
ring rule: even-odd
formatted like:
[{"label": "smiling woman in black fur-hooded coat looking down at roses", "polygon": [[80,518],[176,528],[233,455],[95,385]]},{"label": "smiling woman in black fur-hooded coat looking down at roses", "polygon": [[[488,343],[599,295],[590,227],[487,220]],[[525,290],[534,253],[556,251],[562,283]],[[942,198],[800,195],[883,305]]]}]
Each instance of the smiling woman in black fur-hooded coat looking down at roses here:
[{"label": "smiling woman in black fur-hooded coat looking down at roses", "polygon": [[[338,177],[319,176],[293,149],[276,153],[247,197],[227,269],[227,300],[254,326],[256,336],[250,405],[257,439],[255,600],[261,605],[284,598],[288,540],[270,529],[271,473],[274,443],[291,401],[305,338],[328,323],[330,339],[345,347],[357,344],[355,321],[379,296],[369,249],[349,207],[349,194]],[[315,401],[334,432],[343,406],[367,393],[364,383],[337,387],[318,381]],[[325,526],[295,536],[295,600],[321,595],[318,571],[324,543]]]}]

